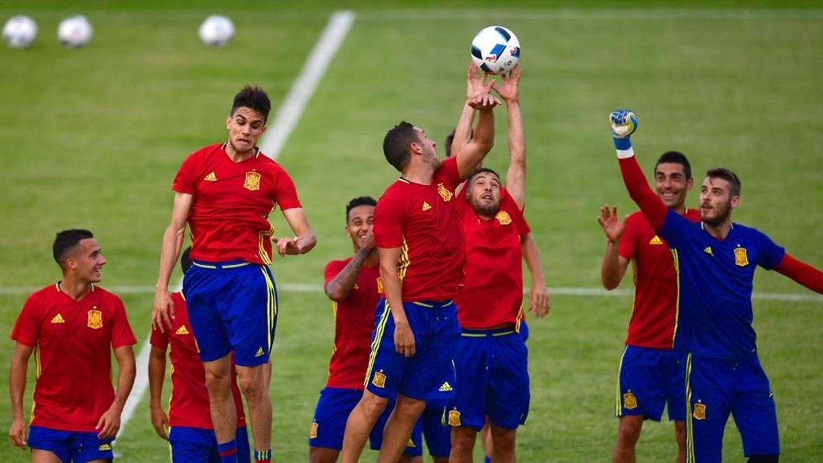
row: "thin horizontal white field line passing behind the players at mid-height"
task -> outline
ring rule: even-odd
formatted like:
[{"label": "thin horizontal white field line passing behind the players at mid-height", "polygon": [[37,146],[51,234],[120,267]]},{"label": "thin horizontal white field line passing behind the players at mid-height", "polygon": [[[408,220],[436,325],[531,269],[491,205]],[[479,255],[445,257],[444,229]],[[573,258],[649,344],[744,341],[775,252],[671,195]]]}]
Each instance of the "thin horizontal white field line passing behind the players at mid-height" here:
[{"label": "thin horizontal white field line passing behind the players at mid-height", "polygon": [[[119,294],[149,294],[154,292],[151,286],[112,286],[105,287],[107,290]],[[38,288],[0,288],[0,295],[29,294]],[[580,296],[580,297],[630,297],[635,294],[633,289],[615,289],[607,291],[602,288],[584,287],[549,287],[549,293],[557,296]],[[176,289],[179,291],[179,288]],[[277,283],[278,292],[311,292],[322,293],[323,286],[309,283]],[[528,292],[523,290],[523,292]],[[811,292],[753,292],[751,298],[760,301],[786,301],[786,302],[823,302],[823,296]]]}]

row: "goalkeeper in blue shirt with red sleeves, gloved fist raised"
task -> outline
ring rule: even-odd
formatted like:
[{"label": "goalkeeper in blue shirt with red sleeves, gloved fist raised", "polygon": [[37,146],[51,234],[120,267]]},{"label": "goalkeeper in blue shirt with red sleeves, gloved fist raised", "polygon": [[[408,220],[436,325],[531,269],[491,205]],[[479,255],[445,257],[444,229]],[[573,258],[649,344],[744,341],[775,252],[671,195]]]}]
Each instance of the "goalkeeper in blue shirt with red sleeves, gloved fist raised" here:
[{"label": "goalkeeper in blue shirt with red sleeves, gloved fist raised", "polygon": [[729,414],[750,463],[777,462],[780,453],[774,398],[751,327],[755,267],[774,269],[823,293],[823,273],[795,260],[769,236],[732,223],[741,183],[728,169],[712,169],[700,188],[700,219],[670,211],[649,188],[630,135],[637,117],[611,113],[611,128],[626,189],[655,231],[672,248],[679,302],[675,348],[686,368],[686,461],[721,461]]}]

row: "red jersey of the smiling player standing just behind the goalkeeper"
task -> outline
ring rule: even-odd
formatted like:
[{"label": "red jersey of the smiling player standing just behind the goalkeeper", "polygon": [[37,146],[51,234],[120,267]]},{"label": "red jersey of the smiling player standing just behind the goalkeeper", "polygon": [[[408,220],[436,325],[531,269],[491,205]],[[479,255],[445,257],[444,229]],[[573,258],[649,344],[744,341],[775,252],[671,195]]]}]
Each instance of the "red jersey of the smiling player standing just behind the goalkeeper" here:
[{"label": "red jersey of the smiling player standing just behind the goalkeeper", "polygon": [[[700,221],[700,211],[686,208],[683,217]],[[666,241],[658,236],[643,213],[625,222],[618,254],[633,260],[635,303],[625,344],[645,348],[672,348],[677,324],[677,272]]]}]

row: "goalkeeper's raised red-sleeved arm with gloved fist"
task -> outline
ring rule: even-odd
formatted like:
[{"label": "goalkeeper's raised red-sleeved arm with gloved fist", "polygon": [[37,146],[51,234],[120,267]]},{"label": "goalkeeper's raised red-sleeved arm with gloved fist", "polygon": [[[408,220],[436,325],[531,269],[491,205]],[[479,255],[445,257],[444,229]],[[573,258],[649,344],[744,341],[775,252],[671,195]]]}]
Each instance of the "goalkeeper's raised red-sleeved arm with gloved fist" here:
[{"label": "goalkeeper's raised red-sleeved arm with gloved fist", "polygon": [[611,113],[609,119],[625,188],[629,190],[629,196],[637,203],[655,232],[659,232],[663,227],[663,221],[666,220],[668,209],[663,200],[649,187],[649,182],[646,181],[635,159],[630,135],[637,129],[637,116],[628,110],[616,110]]}]

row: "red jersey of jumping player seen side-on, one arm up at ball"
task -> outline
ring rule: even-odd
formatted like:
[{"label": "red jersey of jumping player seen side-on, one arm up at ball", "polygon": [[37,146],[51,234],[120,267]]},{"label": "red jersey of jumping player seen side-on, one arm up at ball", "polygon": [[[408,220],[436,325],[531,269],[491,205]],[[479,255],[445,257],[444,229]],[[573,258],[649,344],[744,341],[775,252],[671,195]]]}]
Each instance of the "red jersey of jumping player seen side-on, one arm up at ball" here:
[{"label": "red jersey of jumping player seen side-on, one arm up at ball", "polygon": [[466,260],[454,205],[459,183],[457,161],[449,157],[435,171],[431,185],[400,177],[374,208],[377,246],[402,250],[398,274],[403,301],[443,301],[457,293]]}]

